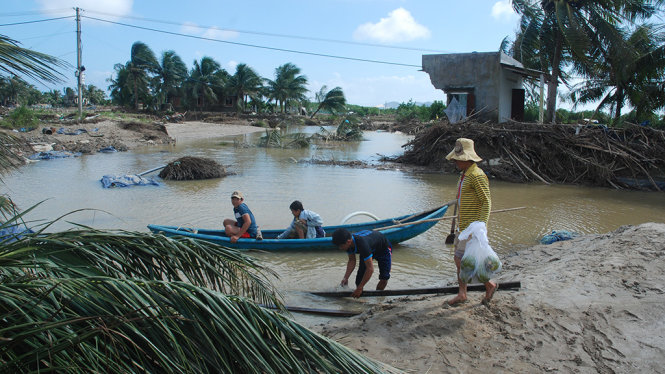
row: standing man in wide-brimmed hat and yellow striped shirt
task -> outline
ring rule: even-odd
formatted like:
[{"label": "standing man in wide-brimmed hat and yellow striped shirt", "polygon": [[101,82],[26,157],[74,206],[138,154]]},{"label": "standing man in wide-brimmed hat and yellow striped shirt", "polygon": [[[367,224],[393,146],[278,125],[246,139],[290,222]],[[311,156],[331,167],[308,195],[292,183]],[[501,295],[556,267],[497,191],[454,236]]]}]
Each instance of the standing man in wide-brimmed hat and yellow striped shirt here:
[{"label": "standing man in wide-brimmed hat and yellow striped shirt", "polygon": [[[459,291],[457,296],[448,300],[446,303],[450,306],[459,305],[466,302],[466,283],[460,279],[460,267],[467,240],[459,240],[459,233],[464,231],[472,222],[482,221],[487,223],[490,218],[490,209],[492,208],[492,199],[490,196],[489,181],[485,172],[478,167],[476,162],[482,161],[476,154],[473,140],[459,138],[455,141],[455,148],[446,156],[446,160],[455,162],[457,168],[461,171],[457,183],[457,207],[458,207],[458,230],[455,236],[455,266],[457,267],[457,281],[459,282]],[[494,296],[497,285],[492,281],[485,282],[485,297],[483,304],[487,305]]]}]

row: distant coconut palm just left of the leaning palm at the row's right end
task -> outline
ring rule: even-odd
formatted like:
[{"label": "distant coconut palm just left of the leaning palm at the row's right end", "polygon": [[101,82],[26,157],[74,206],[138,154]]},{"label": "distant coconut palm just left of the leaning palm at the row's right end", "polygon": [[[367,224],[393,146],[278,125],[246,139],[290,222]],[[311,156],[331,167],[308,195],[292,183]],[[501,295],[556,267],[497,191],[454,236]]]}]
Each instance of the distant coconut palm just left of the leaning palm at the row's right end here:
[{"label": "distant coconut palm just left of the leaning palm at the row's right end", "polygon": [[270,97],[285,112],[290,101],[306,100],[307,77],[300,75],[300,68],[288,62],[275,69],[275,80],[267,80]]}]

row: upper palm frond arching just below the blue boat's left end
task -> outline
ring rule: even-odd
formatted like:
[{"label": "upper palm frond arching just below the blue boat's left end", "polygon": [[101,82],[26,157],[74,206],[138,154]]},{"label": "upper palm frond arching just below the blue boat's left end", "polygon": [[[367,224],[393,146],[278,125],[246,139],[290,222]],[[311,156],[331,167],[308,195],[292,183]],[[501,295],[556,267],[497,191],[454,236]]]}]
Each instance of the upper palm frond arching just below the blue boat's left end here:
[{"label": "upper palm frond arching just below the blue boat's left end", "polygon": [[241,252],[213,243],[84,228],[25,234],[2,244],[3,271],[11,266],[26,275],[183,281],[281,305],[267,279],[267,275],[275,275],[271,270]]}]

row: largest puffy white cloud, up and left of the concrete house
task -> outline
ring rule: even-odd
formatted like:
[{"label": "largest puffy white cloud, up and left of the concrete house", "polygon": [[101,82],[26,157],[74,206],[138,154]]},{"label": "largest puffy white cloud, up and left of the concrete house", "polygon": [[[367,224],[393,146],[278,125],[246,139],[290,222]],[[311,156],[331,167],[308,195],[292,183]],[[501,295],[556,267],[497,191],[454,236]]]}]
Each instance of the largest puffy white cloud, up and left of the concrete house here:
[{"label": "largest puffy white cloud, up and left of the concrete house", "polygon": [[362,24],[353,32],[353,38],[356,40],[375,40],[382,43],[426,39],[429,36],[429,29],[416,22],[411,13],[404,8],[393,10],[388,13],[388,18],[381,18],[377,23]]}]

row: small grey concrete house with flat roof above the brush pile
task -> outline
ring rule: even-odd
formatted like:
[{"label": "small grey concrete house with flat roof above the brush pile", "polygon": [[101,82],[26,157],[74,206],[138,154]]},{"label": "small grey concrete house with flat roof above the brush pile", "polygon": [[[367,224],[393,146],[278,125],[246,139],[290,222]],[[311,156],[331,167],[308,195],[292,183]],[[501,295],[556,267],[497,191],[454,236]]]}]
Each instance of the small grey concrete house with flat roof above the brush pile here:
[{"label": "small grey concrete house with flat roof above the brush pile", "polygon": [[524,120],[524,79],[540,79],[543,97],[543,73],[503,52],[423,55],[422,67],[446,93],[451,122],[471,114],[499,123]]}]

